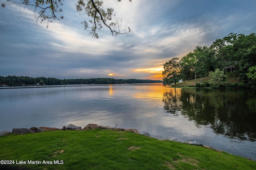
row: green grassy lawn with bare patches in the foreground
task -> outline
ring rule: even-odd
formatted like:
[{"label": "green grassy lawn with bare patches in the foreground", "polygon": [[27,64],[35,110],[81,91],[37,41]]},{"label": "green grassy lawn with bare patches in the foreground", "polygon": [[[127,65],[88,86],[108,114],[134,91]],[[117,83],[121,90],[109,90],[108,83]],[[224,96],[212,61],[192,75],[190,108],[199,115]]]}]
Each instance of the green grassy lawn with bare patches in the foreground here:
[{"label": "green grassy lawn with bare patches in the foreground", "polygon": [[[229,170],[256,169],[256,162],[205,147],[144,135],[93,129],[46,131],[0,137],[0,160],[41,161],[15,168],[42,170]],[[53,164],[43,164],[43,160]],[[63,164],[54,164],[59,160]],[[8,165],[8,167],[12,167]]]}]

